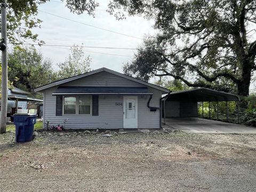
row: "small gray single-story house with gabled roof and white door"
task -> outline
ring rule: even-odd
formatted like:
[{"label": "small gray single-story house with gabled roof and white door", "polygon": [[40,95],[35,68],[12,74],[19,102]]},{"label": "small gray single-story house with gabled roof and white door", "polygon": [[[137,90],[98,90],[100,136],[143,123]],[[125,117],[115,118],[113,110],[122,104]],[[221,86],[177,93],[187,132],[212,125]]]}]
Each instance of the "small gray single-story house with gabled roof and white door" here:
[{"label": "small gray single-story house with gabled roof and white door", "polygon": [[162,94],[170,91],[100,68],[35,89],[43,93],[44,123],[66,129],[159,129]]}]

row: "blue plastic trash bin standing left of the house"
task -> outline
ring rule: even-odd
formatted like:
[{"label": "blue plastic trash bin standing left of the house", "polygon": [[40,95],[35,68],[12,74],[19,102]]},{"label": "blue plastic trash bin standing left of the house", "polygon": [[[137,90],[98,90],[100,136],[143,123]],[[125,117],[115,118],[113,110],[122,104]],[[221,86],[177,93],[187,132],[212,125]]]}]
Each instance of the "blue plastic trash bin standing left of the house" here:
[{"label": "blue plastic trash bin standing left of the house", "polygon": [[36,115],[15,114],[13,115],[13,123],[15,124],[16,142],[31,141],[34,133],[34,124],[36,123]]}]

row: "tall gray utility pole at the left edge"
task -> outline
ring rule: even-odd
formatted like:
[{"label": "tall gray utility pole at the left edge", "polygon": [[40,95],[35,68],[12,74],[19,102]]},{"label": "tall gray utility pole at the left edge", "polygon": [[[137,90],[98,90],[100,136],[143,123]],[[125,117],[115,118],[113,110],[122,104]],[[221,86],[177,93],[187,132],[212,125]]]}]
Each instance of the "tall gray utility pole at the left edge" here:
[{"label": "tall gray utility pole at the left edge", "polygon": [[0,50],[2,51],[2,99],[1,99],[1,113],[0,113],[0,133],[6,132],[6,114],[7,114],[7,34],[6,34],[6,0],[1,3],[1,33],[2,41],[0,43]]}]

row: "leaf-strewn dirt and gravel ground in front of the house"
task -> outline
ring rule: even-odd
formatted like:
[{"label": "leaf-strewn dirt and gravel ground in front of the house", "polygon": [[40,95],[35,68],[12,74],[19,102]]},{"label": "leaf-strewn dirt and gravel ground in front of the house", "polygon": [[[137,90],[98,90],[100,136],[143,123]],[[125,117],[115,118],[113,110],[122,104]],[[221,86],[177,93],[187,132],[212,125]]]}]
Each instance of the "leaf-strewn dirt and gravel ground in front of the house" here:
[{"label": "leaf-strewn dirt and gravel ground in front of the house", "polygon": [[0,135],[0,191],[255,191],[256,134]]}]

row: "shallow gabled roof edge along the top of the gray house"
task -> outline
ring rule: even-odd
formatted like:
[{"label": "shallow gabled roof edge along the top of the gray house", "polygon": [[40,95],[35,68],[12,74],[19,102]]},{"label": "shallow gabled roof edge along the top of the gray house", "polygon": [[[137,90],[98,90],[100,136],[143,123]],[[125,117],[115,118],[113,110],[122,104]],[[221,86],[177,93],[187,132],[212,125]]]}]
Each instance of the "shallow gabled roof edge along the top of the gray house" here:
[{"label": "shallow gabled roof edge along the top of the gray house", "polygon": [[140,84],[143,84],[143,85],[147,85],[149,87],[153,87],[154,89],[161,90],[161,91],[166,92],[166,93],[170,92],[169,90],[165,89],[164,87],[157,86],[157,85],[154,85],[154,84],[151,84],[151,83],[148,83],[148,82],[141,81],[139,79],[136,79],[136,78],[124,75],[122,73],[118,73],[117,71],[110,70],[110,69],[107,69],[105,67],[102,67],[100,69],[96,69],[96,70],[90,71],[90,72],[85,73],[85,74],[77,75],[77,76],[74,76],[74,77],[64,78],[64,79],[61,79],[59,81],[55,81],[55,82],[52,82],[52,83],[49,83],[49,84],[37,87],[34,91],[43,91],[45,89],[49,89],[50,87],[61,85],[63,83],[68,83],[68,82],[74,81],[74,80],[79,79],[79,78],[83,78],[83,77],[87,77],[87,76],[90,76],[90,75],[93,75],[93,74],[100,73],[102,71],[106,71],[108,73],[111,73],[111,74],[114,74],[114,75],[117,75],[117,76],[129,79],[131,81],[134,81],[134,82],[137,82],[137,83],[140,83]]}]

